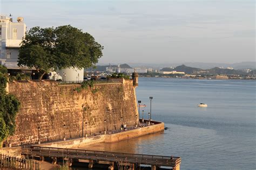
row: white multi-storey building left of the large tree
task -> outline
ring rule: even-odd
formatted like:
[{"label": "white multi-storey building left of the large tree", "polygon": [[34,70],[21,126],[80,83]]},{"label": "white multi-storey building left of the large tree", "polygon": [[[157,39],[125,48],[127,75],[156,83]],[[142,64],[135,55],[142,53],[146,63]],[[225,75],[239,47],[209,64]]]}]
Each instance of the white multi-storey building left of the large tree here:
[{"label": "white multi-storey building left of the large tree", "polygon": [[25,32],[26,25],[22,17],[13,22],[12,18],[0,15],[0,64],[18,68],[18,51]]}]

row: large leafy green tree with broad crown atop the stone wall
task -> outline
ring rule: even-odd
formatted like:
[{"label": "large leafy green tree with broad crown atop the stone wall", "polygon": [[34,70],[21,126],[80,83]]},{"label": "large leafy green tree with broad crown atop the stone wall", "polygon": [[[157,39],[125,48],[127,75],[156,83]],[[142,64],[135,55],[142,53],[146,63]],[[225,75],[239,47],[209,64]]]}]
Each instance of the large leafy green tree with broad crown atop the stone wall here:
[{"label": "large leafy green tree with broad crown atop the stone wall", "polygon": [[35,67],[41,80],[51,70],[94,66],[103,55],[102,49],[89,33],[70,25],[33,27],[22,41],[18,65]]}]

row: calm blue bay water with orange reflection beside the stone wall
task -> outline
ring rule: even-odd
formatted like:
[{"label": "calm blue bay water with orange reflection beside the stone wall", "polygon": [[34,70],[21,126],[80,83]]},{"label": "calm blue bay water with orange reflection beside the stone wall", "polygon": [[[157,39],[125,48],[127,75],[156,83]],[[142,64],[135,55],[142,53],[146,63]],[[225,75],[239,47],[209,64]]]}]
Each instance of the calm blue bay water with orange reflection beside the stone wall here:
[{"label": "calm blue bay water with orange reflection beside the stone wall", "polygon": [[[85,148],[176,155],[181,169],[255,169],[255,85],[244,80],[140,78],[137,100],[149,112],[153,96],[152,119],[169,129]],[[198,108],[199,103],[208,108]]]}]

